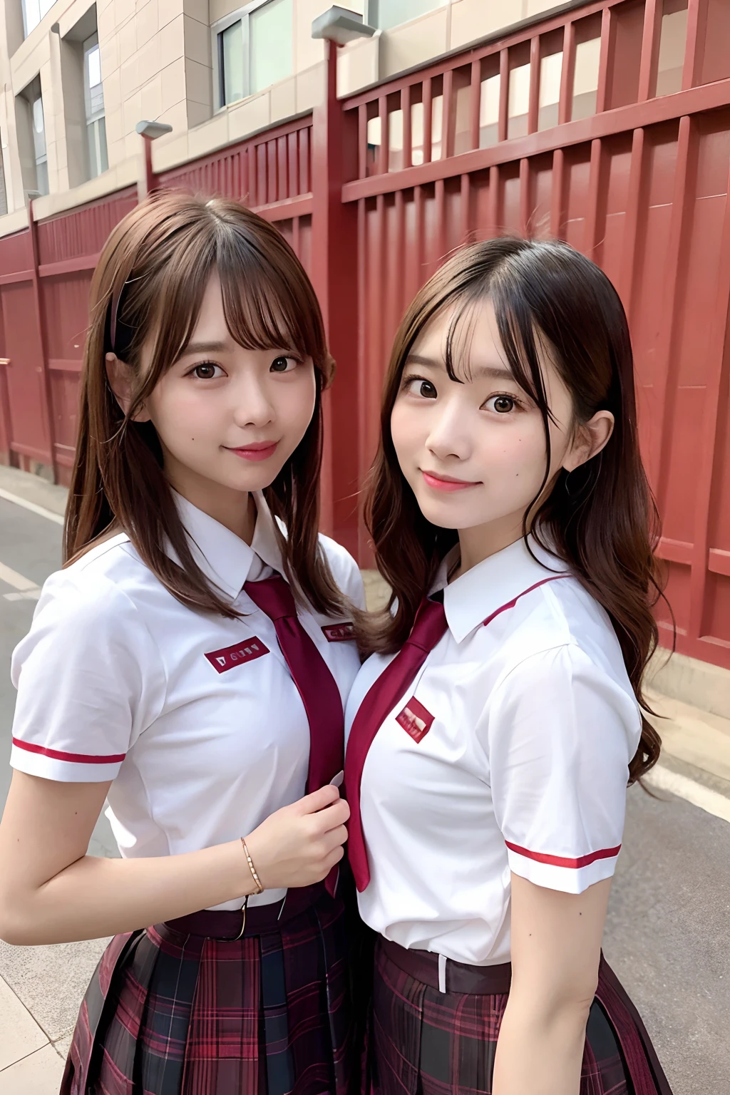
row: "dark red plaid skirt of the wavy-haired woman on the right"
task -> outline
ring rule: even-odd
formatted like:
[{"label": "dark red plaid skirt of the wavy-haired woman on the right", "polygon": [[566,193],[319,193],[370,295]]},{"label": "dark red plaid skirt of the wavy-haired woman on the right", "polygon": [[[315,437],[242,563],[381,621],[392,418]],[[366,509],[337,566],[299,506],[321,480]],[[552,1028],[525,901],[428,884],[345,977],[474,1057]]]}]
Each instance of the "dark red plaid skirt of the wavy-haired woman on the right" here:
[{"label": "dark red plaid skirt of the wavy-haired woman on the right", "polygon": [[[363,1091],[490,1095],[511,967],[449,967],[448,991],[440,992],[437,955],[408,952],[379,938],[370,1075]],[[486,976],[491,986],[470,991],[470,980]],[[580,1095],[672,1095],[646,1028],[603,957],[586,1030]]]}]

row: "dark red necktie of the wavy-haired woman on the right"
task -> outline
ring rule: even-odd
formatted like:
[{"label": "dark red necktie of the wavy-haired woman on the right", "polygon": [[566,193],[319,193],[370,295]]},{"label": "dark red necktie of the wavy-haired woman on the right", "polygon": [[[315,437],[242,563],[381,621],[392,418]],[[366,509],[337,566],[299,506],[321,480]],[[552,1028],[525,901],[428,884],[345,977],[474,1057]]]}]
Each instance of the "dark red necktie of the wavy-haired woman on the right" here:
[{"label": "dark red necktie of the wavy-haired woman on the right", "polygon": [[403,699],[429,653],[447,630],[443,604],[425,598],[405,645],[371,685],[352,722],[345,757],[345,787],[350,807],[347,854],[355,884],[362,891],[370,881],[368,853],[360,820],[360,782],[362,769],[378,730]]}]

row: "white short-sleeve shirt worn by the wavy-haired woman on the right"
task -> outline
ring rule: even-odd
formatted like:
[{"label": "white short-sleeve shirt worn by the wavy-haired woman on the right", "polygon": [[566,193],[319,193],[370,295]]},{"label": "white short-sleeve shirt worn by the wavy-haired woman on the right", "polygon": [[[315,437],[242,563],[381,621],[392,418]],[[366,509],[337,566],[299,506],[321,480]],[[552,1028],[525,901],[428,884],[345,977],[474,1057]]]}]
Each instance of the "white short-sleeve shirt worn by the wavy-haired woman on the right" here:
[{"label": "white short-sleeve shirt worn by the wavy-haired woman on the right", "polygon": [[[450,585],[444,560],[448,630],[362,772],[360,914],[471,965],[510,959],[510,872],[570,894],[611,877],[641,730],[607,614],[531,546],[541,562],[520,540]],[[363,665],[347,733],[391,660]]]}]

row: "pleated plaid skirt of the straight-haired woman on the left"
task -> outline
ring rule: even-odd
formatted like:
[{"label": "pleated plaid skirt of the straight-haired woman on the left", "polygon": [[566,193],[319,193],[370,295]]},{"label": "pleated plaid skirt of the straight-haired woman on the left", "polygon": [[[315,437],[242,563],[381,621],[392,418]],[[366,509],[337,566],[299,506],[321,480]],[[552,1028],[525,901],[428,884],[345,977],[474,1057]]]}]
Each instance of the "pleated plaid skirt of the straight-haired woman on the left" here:
[{"label": "pleated plaid skirt of the straight-haired woman on the left", "polygon": [[[241,938],[235,926],[210,930],[236,915],[240,926],[241,915],[225,912],[116,936],[81,1005],[61,1095],[346,1095],[359,1086],[345,906],[324,887],[311,890],[309,899],[290,891],[285,908],[252,907]],[[291,915],[292,902],[309,907]]]}]

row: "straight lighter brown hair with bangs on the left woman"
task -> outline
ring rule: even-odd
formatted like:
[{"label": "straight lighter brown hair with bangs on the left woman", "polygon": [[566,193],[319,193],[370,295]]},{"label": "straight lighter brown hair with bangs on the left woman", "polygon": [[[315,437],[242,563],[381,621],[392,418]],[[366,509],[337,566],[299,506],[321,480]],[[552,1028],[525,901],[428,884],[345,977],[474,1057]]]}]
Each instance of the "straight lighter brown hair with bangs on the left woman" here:
[{"label": "straight lighter brown hair with bangs on the left woman", "polygon": [[[322,313],[283,237],[232,200],[161,192],[128,214],[106,241],[91,283],[65,560],[78,557],[105,533],[126,532],[141,560],[184,604],[236,614],[195,563],[154,427],[132,420],[159,378],[184,353],[215,270],[228,328],[241,346],[291,348],[314,362],[312,420],[264,496],[287,528],[285,538],[276,527],[287,577],[320,612],[340,613],[341,596],[317,535],[322,391],[334,371]],[[125,415],[107,381],[105,354],[113,349],[139,370],[148,342],[150,368],[144,377],[138,372],[138,390]],[[167,555],[167,543],[182,565]]]}]

